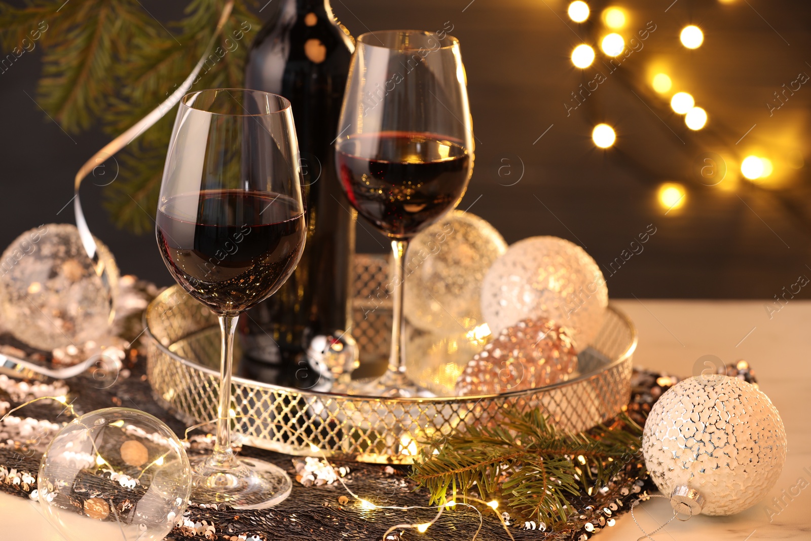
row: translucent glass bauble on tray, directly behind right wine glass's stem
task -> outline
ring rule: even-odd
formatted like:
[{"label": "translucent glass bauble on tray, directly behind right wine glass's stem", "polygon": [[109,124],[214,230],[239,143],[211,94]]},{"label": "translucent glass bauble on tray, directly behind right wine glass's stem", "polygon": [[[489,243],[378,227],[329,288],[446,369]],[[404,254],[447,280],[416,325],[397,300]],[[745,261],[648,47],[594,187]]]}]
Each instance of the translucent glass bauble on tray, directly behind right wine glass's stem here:
[{"label": "translucent glass bauble on tray, directly behind right wine glass's stem", "polygon": [[405,318],[430,333],[457,334],[483,323],[482,281],[507,243],[492,225],[459,210],[409,243]]}]

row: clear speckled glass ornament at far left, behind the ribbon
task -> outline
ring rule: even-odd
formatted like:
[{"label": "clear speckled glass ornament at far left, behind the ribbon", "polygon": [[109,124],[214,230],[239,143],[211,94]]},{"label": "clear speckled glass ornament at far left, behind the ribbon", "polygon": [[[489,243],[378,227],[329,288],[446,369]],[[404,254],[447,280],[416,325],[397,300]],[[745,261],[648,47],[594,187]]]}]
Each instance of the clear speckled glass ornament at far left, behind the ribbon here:
[{"label": "clear speckled glass ornament at far left, behind the ribbon", "polygon": [[88,257],[75,225],[48,224],[19,235],[0,260],[0,312],[19,340],[41,350],[84,344],[113,322],[118,267],[96,239]]}]

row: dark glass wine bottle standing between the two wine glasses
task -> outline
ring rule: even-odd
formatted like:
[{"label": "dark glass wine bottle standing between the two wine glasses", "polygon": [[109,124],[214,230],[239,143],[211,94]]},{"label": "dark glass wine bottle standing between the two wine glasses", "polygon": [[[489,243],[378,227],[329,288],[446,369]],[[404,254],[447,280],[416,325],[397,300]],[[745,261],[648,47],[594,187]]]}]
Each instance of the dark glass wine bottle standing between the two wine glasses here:
[{"label": "dark glass wine bottle standing between the two wine glasses", "polygon": [[247,88],[290,100],[302,165],[307,242],[293,275],[239,325],[243,374],[310,389],[317,336],[349,336],[354,210],[341,190],[333,143],[354,42],[328,0],[274,2],[249,53]]}]

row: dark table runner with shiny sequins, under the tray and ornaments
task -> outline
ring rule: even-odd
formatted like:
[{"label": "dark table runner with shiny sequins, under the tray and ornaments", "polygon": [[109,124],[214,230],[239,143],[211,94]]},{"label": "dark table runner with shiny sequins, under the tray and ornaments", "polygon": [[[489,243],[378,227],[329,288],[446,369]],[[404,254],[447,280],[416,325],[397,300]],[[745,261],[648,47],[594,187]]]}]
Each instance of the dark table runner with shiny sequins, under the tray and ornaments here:
[{"label": "dark table runner with shiny sequins, under the tray and ornaments", "polygon": [[[182,436],[185,427],[177,419],[162,410],[152,401],[151,388],[144,375],[145,361],[131,358],[127,366],[128,377],[119,378],[107,388],[100,386],[92,376],[83,375],[67,380],[70,390],[68,399],[78,413],[85,413],[109,406],[127,406],[147,411],[163,419],[169,427]],[[3,376],[4,377],[4,376]],[[637,422],[644,423],[646,414],[663,390],[676,383],[678,378],[663,376],[650,371],[634,371],[633,393],[629,413]],[[15,384],[6,380],[6,385]],[[101,387],[101,388],[100,388]],[[30,390],[30,389],[29,389]],[[44,392],[46,389],[40,389]],[[19,396],[18,396],[19,397]],[[0,401],[15,406],[11,393],[0,391]],[[37,402],[19,412],[22,417],[6,419],[0,426],[0,489],[17,496],[31,497],[36,490],[36,471],[41,454],[49,438],[69,420],[65,408]],[[195,453],[192,446],[191,453]],[[296,477],[294,457],[272,453],[263,449],[245,447],[242,455],[263,458],[281,466],[291,477]],[[300,460],[300,459],[299,459]],[[409,506],[427,505],[427,492],[417,490],[408,479],[406,466],[380,466],[356,462],[333,461],[333,466],[345,466],[349,473],[344,482],[359,496],[376,505]],[[299,478],[300,479],[300,478]],[[92,481],[88,481],[92,482]],[[272,509],[236,510],[227,505],[190,505],[182,522],[174,529],[175,538],[196,539],[319,539],[368,541],[382,539],[389,526],[402,522],[427,522],[433,517],[430,509],[397,511],[392,509],[363,509],[357,500],[346,501],[349,496],[340,483],[320,484],[294,483],[290,497]],[[103,491],[104,487],[97,487]],[[585,541],[600,530],[612,526],[616,517],[627,513],[633,500],[644,497],[655,487],[647,478],[642,457],[634,457],[624,470],[607,487],[594,496],[585,493],[572,500],[568,521],[554,528],[543,523],[516,524],[511,522],[510,533],[514,539],[577,539]],[[35,494],[36,497],[36,494]],[[473,509],[457,506],[446,512],[435,526],[423,534],[411,530],[400,537],[389,535],[386,541],[398,539],[448,539],[453,535],[460,541],[473,539],[479,527],[479,516]],[[483,524],[477,539],[508,539],[504,526],[493,515],[483,513]]]}]

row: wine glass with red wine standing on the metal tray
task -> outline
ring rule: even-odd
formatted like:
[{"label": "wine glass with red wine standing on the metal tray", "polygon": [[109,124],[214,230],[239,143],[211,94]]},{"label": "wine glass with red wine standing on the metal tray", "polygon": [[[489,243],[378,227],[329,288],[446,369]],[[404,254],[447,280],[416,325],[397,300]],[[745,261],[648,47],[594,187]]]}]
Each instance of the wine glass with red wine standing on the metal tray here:
[{"label": "wine glass with red wine standing on the metal tray", "polygon": [[459,41],[418,30],[358,37],[335,143],[341,187],[392,239],[392,347],[375,393],[414,396],[405,375],[403,281],[409,239],[459,204],[473,170],[473,131]]}]

